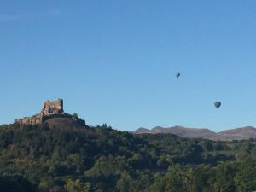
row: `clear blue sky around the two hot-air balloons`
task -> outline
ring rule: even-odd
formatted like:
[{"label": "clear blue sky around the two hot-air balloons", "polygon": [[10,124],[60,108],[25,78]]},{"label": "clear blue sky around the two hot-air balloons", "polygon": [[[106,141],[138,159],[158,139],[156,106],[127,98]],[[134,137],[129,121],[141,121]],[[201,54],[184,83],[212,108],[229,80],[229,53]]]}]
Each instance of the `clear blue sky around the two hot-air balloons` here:
[{"label": "clear blue sky around the two hot-air balloons", "polygon": [[255,10],[254,0],[2,0],[0,124],[61,97],[67,113],[119,130],[256,126]]}]

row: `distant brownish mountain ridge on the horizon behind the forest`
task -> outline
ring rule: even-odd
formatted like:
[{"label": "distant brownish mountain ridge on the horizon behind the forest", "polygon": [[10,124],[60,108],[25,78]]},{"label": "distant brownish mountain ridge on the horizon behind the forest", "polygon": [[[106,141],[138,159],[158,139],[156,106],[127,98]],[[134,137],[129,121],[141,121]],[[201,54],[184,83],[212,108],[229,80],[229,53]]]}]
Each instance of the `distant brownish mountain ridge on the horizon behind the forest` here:
[{"label": "distant brownish mountain ridge on the horizon behind the forest", "polygon": [[231,141],[256,138],[256,128],[253,126],[245,126],[236,129],[230,129],[220,132],[214,132],[207,128],[187,128],[183,126],[161,127],[156,126],[151,130],[144,127],[138,128],[134,134],[174,134],[179,137],[189,138],[205,138],[210,140]]}]

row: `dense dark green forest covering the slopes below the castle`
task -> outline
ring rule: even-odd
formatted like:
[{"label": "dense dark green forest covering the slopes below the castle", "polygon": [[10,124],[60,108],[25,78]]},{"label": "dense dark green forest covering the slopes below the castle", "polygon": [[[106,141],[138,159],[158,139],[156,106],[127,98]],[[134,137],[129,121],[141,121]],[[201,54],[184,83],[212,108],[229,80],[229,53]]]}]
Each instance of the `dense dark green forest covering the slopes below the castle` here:
[{"label": "dense dark green forest covering the slopes below the castle", "polygon": [[1,192],[249,192],[256,140],[133,135],[108,125],[0,126]]}]

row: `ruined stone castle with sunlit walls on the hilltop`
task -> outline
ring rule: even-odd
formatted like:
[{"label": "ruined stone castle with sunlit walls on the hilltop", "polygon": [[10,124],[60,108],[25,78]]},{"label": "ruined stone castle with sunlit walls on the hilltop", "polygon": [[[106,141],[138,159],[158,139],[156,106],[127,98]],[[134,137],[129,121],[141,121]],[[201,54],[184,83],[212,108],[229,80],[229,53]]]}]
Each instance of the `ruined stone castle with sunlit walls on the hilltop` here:
[{"label": "ruined stone castle with sunlit walls on the hilltop", "polygon": [[45,120],[57,117],[72,118],[72,115],[64,113],[62,99],[58,99],[54,102],[50,102],[49,100],[44,102],[44,108],[41,110],[41,113],[35,114],[32,117],[15,120],[15,123],[34,125],[44,123]]}]

